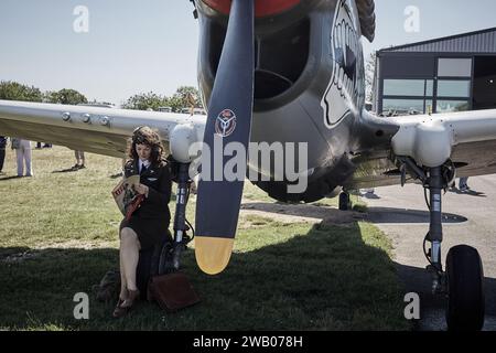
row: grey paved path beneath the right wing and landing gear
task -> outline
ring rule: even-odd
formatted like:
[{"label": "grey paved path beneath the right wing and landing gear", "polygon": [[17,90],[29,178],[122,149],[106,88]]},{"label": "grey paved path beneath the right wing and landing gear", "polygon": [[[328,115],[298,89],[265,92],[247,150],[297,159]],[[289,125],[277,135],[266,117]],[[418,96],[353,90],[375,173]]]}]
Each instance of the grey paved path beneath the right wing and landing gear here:
[{"label": "grey paved path beneath the right wing and landing gear", "polygon": [[[443,196],[443,264],[454,245],[477,248],[486,277],[484,330],[493,331],[496,330],[496,175],[470,178],[468,185],[475,192],[448,192]],[[423,188],[417,184],[378,188],[373,197],[364,200],[369,206],[369,221],[392,238],[407,292],[420,295],[422,319],[418,329],[445,330],[445,300],[431,295],[431,277],[424,270],[422,242],[429,229],[429,212]]]}]

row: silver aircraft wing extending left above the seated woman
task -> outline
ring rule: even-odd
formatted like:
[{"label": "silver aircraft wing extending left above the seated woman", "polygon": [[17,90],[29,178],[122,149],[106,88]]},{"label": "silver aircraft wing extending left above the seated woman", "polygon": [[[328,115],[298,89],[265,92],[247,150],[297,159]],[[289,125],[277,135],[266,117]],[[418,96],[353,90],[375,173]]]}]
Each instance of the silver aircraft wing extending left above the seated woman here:
[{"label": "silver aircraft wing extending left above the seated woman", "polygon": [[[127,139],[139,126],[158,129],[164,148],[170,151],[176,126],[190,127],[193,136],[184,141],[190,143],[202,140],[205,120],[205,116],[186,114],[0,100],[1,136],[118,158],[125,157]],[[181,142],[184,133],[179,135]]]}]

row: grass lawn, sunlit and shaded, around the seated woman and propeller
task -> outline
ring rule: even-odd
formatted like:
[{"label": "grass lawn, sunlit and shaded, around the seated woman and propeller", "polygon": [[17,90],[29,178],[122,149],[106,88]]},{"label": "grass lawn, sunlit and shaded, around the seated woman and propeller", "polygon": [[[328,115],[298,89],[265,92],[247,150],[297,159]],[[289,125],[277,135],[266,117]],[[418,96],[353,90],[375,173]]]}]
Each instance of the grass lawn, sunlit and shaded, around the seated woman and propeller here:
[{"label": "grass lawn, sunlit and shaded, around the seated woman and propeller", "polygon": [[[121,161],[88,153],[87,169],[64,172],[75,163],[73,151],[33,150],[35,176],[17,179],[13,152],[7,152],[7,175],[0,176],[0,330],[410,329],[391,243],[376,227],[291,223],[244,211],[223,274],[198,270],[193,243],[184,255],[183,271],[200,304],[168,314],[140,302],[130,317],[112,319],[115,302],[98,302],[91,287],[118,269],[121,215],[110,190]],[[245,200],[273,203],[251,184]],[[194,205],[193,196],[192,223]],[[76,292],[89,295],[89,320],[73,317]]]}]

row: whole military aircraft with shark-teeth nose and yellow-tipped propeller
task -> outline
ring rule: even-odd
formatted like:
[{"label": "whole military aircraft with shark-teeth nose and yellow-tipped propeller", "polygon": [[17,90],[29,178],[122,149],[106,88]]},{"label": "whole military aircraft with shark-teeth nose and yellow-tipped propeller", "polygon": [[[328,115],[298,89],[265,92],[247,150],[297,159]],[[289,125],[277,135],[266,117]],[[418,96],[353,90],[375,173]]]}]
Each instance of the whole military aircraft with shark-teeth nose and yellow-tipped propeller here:
[{"label": "whole military aircraft with shark-teeth nose and yellow-tipped propeller", "polygon": [[[176,240],[186,229],[195,142],[308,143],[306,169],[299,174],[308,188],[299,193],[289,192],[294,180],[288,175],[276,179],[273,169],[248,161],[249,171],[270,176],[254,182],[284,202],[313,202],[344,190],[345,208],[348,190],[420,182],[431,220],[424,255],[433,288],[448,295],[449,327],[481,329],[481,257],[470,246],[456,246],[443,268],[441,201],[456,174],[496,172],[496,110],[401,118],[367,113],[360,41],[375,36],[374,0],[191,1],[201,31],[198,83],[206,118],[0,100],[1,135],[121,158],[134,128],[157,128],[180,164]],[[224,157],[222,164],[228,161]],[[200,180],[195,254],[207,274],[229,261],[242,185],[242,178]]]}]

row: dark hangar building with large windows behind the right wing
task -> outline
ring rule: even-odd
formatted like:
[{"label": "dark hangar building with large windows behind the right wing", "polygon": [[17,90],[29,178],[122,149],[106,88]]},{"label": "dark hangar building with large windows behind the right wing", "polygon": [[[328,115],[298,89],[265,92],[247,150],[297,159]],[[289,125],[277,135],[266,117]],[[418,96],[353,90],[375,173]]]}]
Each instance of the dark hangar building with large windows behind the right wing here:
[{"label": "dark hangar building with large windows behind the right wing", "polygon": [[377,52],[377,114],[496,108],[496,28]]}]

